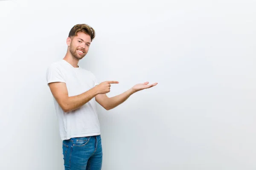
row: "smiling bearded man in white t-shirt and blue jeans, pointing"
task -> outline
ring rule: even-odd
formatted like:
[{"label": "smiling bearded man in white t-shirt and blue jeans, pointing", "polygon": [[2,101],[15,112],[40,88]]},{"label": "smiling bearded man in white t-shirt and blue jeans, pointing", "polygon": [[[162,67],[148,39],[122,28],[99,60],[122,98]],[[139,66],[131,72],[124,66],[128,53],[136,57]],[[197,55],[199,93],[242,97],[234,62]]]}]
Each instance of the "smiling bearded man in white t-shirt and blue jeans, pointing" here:
[{"label": "smiling bearded man in white t-shirt and blue jeans, pointing", "polygon": [[65,170],[101,170],[102,145],[96,102],[106,110],[120,105],[131,94],[151,88],[157,83],[134,85],[128,91],[109,98],[111,84],[97,82],[90,71],[78,62],[88,52],[95,37],[93,28],[86,24],[73,26],[67,38],[65,57],[47,68],[47,85],[52,92],[63,141]]}]

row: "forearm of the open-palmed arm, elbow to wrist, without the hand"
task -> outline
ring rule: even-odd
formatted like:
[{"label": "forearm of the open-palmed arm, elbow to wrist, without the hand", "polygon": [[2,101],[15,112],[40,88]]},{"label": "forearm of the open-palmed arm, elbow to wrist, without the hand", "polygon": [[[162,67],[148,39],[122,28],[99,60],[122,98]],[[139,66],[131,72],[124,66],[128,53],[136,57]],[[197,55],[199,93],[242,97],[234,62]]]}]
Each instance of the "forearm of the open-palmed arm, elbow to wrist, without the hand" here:
[{"label": "forearm of the open-palmed arm, elbow to wrist, without the hand", "polygon": [[132,88],[129,89],[128,91],[125,91],[122,94],[119,94],[114,97],[108,98],[108,105],[107,105],[107,110],[113,109],[116,106],[122,104],[127,100],[132,94],[134,94],[136,91],[134,91]]}]

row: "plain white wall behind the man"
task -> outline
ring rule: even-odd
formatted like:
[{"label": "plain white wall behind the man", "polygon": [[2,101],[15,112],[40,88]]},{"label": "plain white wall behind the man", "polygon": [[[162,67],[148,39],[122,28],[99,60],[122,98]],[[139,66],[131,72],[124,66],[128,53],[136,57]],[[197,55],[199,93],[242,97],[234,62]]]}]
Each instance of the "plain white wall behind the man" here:
[{"label": "plain white wall behind the man", "polygon": [[253,0],[0,1],[0,169],[62,170],[47,66],[77,23],[96,30],[80,66],[108,96],[100,106],[102,170],[256,169]]}]

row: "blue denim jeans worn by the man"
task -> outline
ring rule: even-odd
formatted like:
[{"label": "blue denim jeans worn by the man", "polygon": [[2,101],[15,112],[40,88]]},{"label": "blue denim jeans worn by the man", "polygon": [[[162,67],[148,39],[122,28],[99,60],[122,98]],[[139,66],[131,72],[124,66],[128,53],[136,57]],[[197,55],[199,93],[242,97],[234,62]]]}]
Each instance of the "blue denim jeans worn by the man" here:
[{"label": "blue denim jeans worn by the man", "polygon": [[101,136],[71,138],[62,142],[65,170],[101,170]]}]

